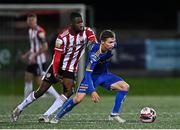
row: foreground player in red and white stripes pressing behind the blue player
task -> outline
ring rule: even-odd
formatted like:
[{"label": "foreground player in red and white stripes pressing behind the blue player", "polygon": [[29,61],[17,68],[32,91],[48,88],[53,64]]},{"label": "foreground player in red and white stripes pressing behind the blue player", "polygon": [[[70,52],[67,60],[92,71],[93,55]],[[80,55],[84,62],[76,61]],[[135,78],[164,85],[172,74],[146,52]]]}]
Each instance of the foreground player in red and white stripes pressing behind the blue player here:
[{"label": "foreground player in red and white stripes pressing behind the blue player", "polygon": [[78,62],[85,51],[87,44],[96,42],[94,32],[83,26],[83,19],[79,13],[72,12],[71,24],[59,33],[54,49],[52,63],[44,75],[39,89],[29,94],[12,113],[12,121],[17,121],[25,107],[42,96],[52,84],[59,81],[63,84],[63,94],[57,98],[53,105],[39,119],[40,122],[49,122],[49,117],[73,94],[75,87],[75,73]]}]

